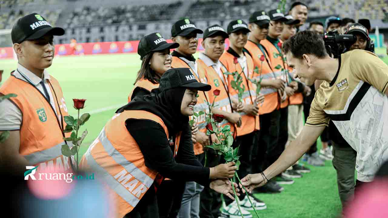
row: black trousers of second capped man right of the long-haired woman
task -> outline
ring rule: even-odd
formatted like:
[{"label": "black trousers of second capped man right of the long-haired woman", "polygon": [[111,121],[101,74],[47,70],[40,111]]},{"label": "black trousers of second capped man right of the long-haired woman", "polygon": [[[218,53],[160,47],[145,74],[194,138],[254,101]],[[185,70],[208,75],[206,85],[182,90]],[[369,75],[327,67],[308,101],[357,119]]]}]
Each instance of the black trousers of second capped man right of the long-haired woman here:
[{"label": "black trousers of second capped man right of the long-haired woman", "polygon": [[[220,164],[221,157],[213,149],[207,149],[206,167],[214,167]],[[204,165],[205,154],[198,155],[198,160]],[[222,163],[225,163],[223,161]],[[217,218],[221,215],[221,194],[210,187],[204,187],[201,192],[201,202],[199,204],[199,217],[201,218]]]}]

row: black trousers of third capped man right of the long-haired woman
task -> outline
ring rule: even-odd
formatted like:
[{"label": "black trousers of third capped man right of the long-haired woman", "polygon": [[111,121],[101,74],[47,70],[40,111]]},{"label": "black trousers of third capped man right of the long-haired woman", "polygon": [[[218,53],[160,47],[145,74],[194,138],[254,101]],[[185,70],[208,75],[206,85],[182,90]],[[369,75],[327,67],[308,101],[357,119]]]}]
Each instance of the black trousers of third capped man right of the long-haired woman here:
[{"label": "black trousers of third capped man right of the long-haired woman", "polygon": [[[256,143],[258,142],[258,139],[260,138],[260,131],[253,131],[246,135],[241,135],[239,137],[236,137],[236,143],[233,145],[235,147],[240,146],[239,148],[239,158],[240,161],[240,167],[239,170],[237,170],[237,175],[240,179],[244,178],[246,175],[252,173],[253,168],[253,158],[257,157],[257,152],[259,152],[259,149],[257,149]],[[235,182],[238,183],[237,178],[234,178]],[[240,192],[239,199],[244,199],[245,194]],[[224,197],[225,203],[228,205],[232,203],[232,199],[229,197]]]}]

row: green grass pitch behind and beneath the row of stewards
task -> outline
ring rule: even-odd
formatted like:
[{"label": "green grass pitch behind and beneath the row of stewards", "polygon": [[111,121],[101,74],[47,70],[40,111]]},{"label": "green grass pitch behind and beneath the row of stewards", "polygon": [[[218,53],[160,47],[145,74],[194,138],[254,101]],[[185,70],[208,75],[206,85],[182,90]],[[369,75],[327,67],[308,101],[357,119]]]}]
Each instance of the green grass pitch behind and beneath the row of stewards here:
[{"label": "green grass pitch behind and beneath the row of stewards", "polygon": [[[384,54],[385,48],[378,52]],[[388,58],[385,57],[384,61],[388,62]],[[81,154],[116,109],[126,104],[140,63],[137,54],[70,56],[56,57],[54,64],[47,69],[61,84],[69,114],[77,116],[72,99],[87,99],[81,113],[90,112],[91,118],[80,129],[83,131],[86,128],[89,132],[81,145]],[[3,81],[15,68],[15,60],[0,60],[0,69],[4,70]],[[318,144],[321,145],[320,141]],[[306,166],[311,168],[311,173],[295,179],[293,185],[283,185],[282,193],[257,195],[267,204],[267,209],[258,211],[260,218],[338,216],[341,202],[331,161],[326,161],[323,167]]]}]

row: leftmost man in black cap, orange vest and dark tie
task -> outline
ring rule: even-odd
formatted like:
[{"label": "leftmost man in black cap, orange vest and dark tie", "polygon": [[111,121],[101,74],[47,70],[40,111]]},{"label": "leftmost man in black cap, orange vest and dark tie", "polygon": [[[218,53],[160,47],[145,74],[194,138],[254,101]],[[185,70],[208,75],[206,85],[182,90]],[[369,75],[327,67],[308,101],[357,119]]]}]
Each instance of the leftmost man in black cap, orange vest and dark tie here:
[{"label": "leftmost man in black cap, orange vest and dark tie", "polygon": [[[30,28],[38,21],[40,26]],[[70,137],[63,131],[68,110],[61,86],[45,71],[54,58],[53,36],[64,35],[64,29],[53,28],[33,13],[17,20],[11,35],[19,63],[0,88],[0,95],[17,96],[0,102],[0,131],[10,130],[0,149],[0,165],[18,175],[31,169],[26,166],[38,166],[38,173],[45,169],[70,171],[72,159],[61,152],[62,145],[72,146],[63,139]],[[31,50],[35,53],[29,54]]]}]

